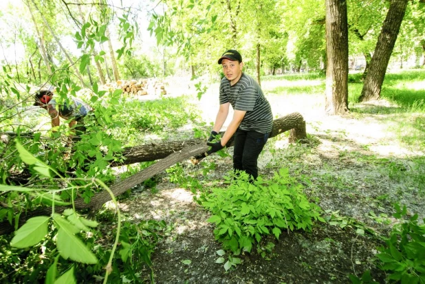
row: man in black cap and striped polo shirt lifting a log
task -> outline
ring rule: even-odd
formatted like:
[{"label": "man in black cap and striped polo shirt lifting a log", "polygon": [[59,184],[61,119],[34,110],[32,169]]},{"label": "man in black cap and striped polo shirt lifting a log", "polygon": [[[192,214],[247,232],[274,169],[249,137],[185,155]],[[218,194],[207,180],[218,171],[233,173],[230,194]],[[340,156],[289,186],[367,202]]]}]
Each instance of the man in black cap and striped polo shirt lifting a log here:
[{"label": "man in black cap and striped polo shirt lifting a log", "polygon": [[[236,50],[228,50],[219,58],[224,78],[220,83],[220,107],[212,128],[208,155],[224,148],[235,134],[233,168],[245,171],[251,179],[257,179],[257,160],[272,131],[273,115],[270,103],[264,97],[259,84],[242,72],[242,56]],[[234,114],[223,137],[212,142],[229,113],[232,105]]]}]

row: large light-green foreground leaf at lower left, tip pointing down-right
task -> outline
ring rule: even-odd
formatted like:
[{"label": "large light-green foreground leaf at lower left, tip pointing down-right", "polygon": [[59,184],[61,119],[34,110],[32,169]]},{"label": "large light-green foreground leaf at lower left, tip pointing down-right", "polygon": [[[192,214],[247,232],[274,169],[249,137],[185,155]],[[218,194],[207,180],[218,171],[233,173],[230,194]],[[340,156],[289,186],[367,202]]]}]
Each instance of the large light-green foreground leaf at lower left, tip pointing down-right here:
[{"label": "large light-green foreground leaf at lower left, tip pointing down-right", "polygon": [[96,256],[91,252],[74,234],[79,232],[78,228],[61,217],[61,215],[54,214],[54,221],[56,221],[59,230],[56,237],[56,245],[61,256],[64,259],[71,259],[80,263],[95,264],[98,262]]}]

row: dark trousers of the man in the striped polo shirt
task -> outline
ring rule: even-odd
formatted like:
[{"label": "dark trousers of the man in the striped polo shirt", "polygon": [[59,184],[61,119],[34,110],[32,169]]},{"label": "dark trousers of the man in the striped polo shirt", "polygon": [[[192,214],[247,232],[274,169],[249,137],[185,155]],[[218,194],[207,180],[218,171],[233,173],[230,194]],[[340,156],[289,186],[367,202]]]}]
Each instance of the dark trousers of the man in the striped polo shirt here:
[{"label": "dark trousers of the man in the striped polo shirt", "polygon": [[265,142],[269,138],[269,134],[237,129],[235,133],[235,150],[233,152],[233,168],[245,171],[252,176],[252,179],[257,179],[259,175],[257,160]]}]

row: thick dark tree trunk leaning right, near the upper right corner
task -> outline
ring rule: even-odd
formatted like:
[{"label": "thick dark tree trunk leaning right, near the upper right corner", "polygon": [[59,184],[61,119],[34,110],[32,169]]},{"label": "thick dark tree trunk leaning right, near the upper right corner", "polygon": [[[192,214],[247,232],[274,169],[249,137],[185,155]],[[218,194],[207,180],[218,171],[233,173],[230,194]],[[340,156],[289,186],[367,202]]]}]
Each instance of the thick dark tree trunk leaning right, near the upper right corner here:
[{"label": "thick dark tree trunk leaning right, near the upper right corner", "polygon": [[397,40],[400,25],[406,12],[408,0],[391,0],[388,13],[382,25],[381,34],[373,52],[371,66],[367,72],[362,89],[362,94],[358,100],[378,100],[381,96],[382,83],[384,82],[386,67],[393,52],[395,41]]}]

